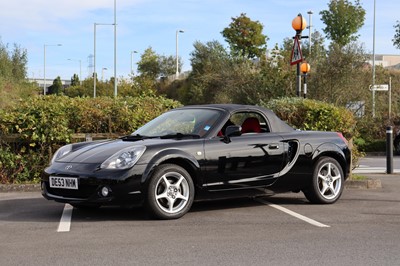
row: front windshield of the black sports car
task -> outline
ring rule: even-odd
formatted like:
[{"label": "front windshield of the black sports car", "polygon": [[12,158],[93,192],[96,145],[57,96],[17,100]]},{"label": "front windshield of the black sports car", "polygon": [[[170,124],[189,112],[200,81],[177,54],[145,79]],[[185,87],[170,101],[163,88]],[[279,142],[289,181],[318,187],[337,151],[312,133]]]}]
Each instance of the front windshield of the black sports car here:
[{"label": "front windshield of the black sports car", "polygon": [[147,137],[198,136],[203,137],[215,126],[221,112],[209,109],[178,109],[160,115],[132,135]]}]

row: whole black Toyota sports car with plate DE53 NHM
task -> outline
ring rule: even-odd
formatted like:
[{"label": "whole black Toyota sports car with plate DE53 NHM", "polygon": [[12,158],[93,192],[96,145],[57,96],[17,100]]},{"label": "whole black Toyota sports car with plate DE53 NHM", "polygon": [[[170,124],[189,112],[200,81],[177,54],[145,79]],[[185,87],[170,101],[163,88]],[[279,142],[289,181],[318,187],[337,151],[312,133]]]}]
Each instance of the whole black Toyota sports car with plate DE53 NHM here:
[{"label": "whole black Toyota sports car with plate DE53 NHM", "polygon": [[262,107],[186,106],[116,140],[61,147],[42,194],[76,208],[144,204],[160,219],[183,216],[194,200],[288,191],[334,203],[350,158],[342,134],[295,130]]}]

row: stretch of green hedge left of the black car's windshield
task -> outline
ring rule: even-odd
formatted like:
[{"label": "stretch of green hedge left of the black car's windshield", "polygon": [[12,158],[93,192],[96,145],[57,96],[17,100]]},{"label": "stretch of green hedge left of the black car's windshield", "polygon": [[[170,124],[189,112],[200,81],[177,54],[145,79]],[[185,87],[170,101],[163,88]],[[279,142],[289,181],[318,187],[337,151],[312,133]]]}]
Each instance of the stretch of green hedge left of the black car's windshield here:
[{"label": "stretch of green hedge left of the black car's windshield", "polygon": [[[161,113],[180,106],[157,96],[127,98],[32,97],[0,110],[0,182],[37,181],[52,153],[73,133],[125,135]],[[0,138],[1,139],[1,138]]]}]

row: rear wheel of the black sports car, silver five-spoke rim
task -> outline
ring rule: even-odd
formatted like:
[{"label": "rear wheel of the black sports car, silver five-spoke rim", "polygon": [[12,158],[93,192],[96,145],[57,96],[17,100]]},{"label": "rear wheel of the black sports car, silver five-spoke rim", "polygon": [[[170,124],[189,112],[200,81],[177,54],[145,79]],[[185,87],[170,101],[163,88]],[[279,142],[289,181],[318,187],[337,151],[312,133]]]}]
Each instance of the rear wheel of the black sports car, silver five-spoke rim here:
[{"label": "rear wheel of the black sports car, silver five-spoke rim", "polygon": [[331,204],[340,198],[343,188],[340,164],[331,157],[321,157],[314,166],[312,184],[303,193],[311,203]]}]

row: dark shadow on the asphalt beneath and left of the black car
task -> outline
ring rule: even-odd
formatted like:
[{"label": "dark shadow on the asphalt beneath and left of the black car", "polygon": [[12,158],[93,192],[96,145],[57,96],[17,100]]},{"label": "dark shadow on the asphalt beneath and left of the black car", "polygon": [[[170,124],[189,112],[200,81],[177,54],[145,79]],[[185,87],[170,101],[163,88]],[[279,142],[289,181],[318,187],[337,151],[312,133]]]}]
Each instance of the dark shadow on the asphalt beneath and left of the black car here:
[{"label": "dark shadow on the asphalt beneath and left of the black car", "polygon": [[[281,195],[281,194],[280,194]],[[259,201],[262,199],[262,202]],[[205,213],[216,210],[251,208],[266,203],[298,205],[308,204],[302,198],[272,196],[262,198],[235,198],[195,202],[189,213]],[[7,222],[59,222],[65,204],[48,201],[43,198],[23,198],[0,200],[0,221]],[[77,209],[72,212],[74,222],[94,221],[150,221],[150,217],[143,207],[103,206],[98,209]]]}]

